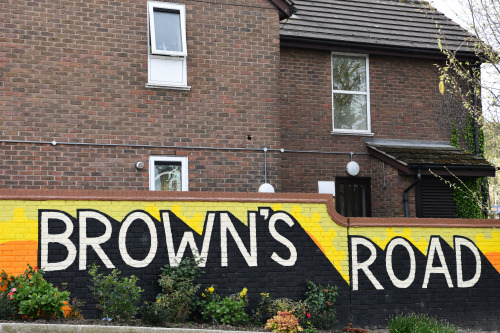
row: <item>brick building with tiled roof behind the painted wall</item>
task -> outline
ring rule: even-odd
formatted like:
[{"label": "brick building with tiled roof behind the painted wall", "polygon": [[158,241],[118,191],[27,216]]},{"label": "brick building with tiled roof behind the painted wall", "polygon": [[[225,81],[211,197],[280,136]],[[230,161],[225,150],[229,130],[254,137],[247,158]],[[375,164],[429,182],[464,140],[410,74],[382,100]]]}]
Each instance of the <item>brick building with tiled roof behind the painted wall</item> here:
[{"label": "brick building with tiled roof behind the painted wall", "polygon": [[[267,182],[335,189],[341,213],[368,216],[403,216],[406,189],[425,216],[430,167],[494,174],[452,150],[439,117],[436,22],[474,60],[467,35],[411,1],[21,0],[0,13],[1,188]],[[451,153],[432,164],[419,149]]]}]

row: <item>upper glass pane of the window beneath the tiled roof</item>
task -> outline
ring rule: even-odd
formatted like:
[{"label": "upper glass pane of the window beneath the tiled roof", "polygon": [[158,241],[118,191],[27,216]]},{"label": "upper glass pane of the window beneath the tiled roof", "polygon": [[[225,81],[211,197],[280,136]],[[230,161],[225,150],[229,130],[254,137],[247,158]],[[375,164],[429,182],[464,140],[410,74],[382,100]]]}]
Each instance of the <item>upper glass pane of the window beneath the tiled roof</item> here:
[{"label": "upper glass pane of the window beneath the tiled roof", "polygon": [[366,58],[333,55],[333,90],[366,92]]}]

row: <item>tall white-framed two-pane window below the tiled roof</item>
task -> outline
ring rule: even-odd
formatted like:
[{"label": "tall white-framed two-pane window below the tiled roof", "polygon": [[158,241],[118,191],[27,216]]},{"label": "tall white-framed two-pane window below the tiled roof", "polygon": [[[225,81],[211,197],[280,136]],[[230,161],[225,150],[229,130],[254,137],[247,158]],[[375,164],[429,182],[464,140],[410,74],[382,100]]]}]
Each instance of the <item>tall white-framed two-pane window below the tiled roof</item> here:
[{"label": "tall white-framed two-pane window below the tiled roof", "polygon": [[368,55],[332,53],[332,134],[373,135]]}]

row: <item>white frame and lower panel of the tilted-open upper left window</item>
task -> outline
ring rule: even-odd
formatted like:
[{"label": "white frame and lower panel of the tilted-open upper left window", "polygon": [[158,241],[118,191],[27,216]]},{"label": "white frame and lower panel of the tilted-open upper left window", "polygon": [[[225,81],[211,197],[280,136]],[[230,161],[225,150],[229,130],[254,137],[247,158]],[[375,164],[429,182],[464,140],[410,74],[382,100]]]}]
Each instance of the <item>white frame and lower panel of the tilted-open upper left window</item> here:
[{"label": "white frame and lower panel of the tilted-open upper left window", "polygon": [[[181,51],[167,51],[156,49],[156,33],[154,28],[154,9],[161,8],[172,11],[178,11],[181,22]],[[166,88],[174,90],[190,90],[187,85],[187,42],[186,42],[186,6],[169,2],[148,1],[148,83],[147,88]],[[177,70],[182,72],[179,76],[162,76],[161,79],[155,79],[154,73],[158,73],[158,67],[176,66]],[[153,68],[154,67],[154,68]],[[164,69],[163,69],[164,71]],[[161,71],[160,71],[161,73]],[[157,75],[158,76],[158,75]]]}]

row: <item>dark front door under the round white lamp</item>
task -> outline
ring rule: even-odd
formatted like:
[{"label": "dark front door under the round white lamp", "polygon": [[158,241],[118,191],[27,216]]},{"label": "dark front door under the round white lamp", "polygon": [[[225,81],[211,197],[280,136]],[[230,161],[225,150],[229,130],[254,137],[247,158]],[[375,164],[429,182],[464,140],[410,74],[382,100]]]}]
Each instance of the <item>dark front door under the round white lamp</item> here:
[{"label": "dark front door under the round white lamp", "polygon": [[370,178],[335,178],[335,208],[342,216],[370,217]]}]

